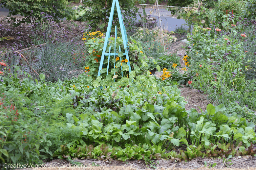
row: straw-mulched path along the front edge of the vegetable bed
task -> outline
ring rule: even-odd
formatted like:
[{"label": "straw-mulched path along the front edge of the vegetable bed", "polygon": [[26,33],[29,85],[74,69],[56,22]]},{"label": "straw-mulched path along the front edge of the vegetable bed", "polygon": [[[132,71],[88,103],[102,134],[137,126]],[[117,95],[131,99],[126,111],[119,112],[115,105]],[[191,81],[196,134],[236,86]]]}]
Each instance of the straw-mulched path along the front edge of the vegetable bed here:
[{"label": "straw-mulched path along the front edge of the vegetable bed", "polygon": [[[189,170],[189,169],[200,169],[206,170],[209,169],[209,164],[217,163],[212,170],[255,170],[256,158],[252,156],[242,156],[240,158],[235,157],[230,159],[228,163],[223,163],[223,159],[213,159],[213,158],[195,158],[191,161],[181,161],[175,162],[172,160],[155,160],[154,166],[156,169],[163,170]],[[80,162],[83,165],[91,165],[92,163],[97,164],[98,167],[85,168],[90,170],[153,170],[155,168],[149,167],[145,164],[145,161],[131,160],[131,161],[112,161],[111,164],[102,162],[95,159],[86,159],[86,160],[75,160]],[[204,162],[207,162],[205,167]],[[233,163],[233,164],[232,164]],[[69,161],[55,159],[53,161],[44,162],[45,165],[68,165],[71,164]],[[54,167],[54,166],[53,166]],[[61,170],[75,170],[75,168],[60,168]],[[60,170],[59,168],[38,168],[38,170]],[[32,168],[24,168],[20,170],[32,170]],[[78,168],[76,168],[78,170]]]}]

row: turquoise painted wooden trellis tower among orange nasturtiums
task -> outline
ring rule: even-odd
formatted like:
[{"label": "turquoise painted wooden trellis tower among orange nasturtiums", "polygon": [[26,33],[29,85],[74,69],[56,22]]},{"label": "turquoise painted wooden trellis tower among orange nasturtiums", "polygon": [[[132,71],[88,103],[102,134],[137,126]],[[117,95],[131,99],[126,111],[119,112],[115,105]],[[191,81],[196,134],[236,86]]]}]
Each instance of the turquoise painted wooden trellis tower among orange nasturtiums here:
[{"label": "turquoise painted wooden trellis tower among orange nasturtiums", "polygon": [[[100,76],[100,70],[102,69],[103,61],[104,61],[105,56],[108,56],[108,66],[107,66],[107,75],[108,75],[110,56],[114,56],[116,58],[116,56],[118,55],[118,53],[116,53],[117,26],[115,27],[115,47],[114,47],[115,51],[114,51],[114,53],[111,53],[111,46],[110,46],[109,47],[109,53],[106,53],[108,39],[110,37],[110,31],[111,31],[112,22],[113,22],[115,4],[117,5],[117,14],[118,14],[118,19],[119,19],[119,24],[120,24],[120,29],[121,29],[122,39],[123,39],[124,51],[125,51],[123,53],[123,55],[126,56],[126,59],[128,60],[127,65],[129,66],[129,73],[131,71],[131,65],[130,65],[128,50],[127,50],[128,40],[127,40],[125,26],[123,24],[123,18],[122,18],[119,2],[118,2],[118,0],[113,0],[111,11],[110,11],[110,16],[109,16],[109,21],[108,21],[108,28],[107,28],[107,32],[106,32],[106,38],[105,38],[105,42],[104,42],[104,46],[103,46],[103,50],[102,50],[102,55],[101,55],[101,59],[100,59],[100,64],[99,64],[98,76]],[[121,52],[120,46],[119,46],[119,52]],[[121,57],[120,57],[120,60],[122,60]],[[115,68],[115,66],[116,66],[116,63],[114,64],[114,68]],[[121,70],[122,70],[122,66],[121,66]],[[122,72],[122,76],[123,76],[123,72]]]}]

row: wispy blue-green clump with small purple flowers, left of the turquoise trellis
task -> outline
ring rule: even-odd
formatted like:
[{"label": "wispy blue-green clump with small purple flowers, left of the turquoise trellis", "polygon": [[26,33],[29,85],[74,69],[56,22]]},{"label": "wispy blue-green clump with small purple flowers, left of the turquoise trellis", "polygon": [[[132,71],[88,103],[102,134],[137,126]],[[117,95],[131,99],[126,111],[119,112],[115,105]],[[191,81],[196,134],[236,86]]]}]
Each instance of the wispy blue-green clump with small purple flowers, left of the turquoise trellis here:
[{"label": "wispy blue-green clump with small purple flowers, left of the turquoise trellis", "polygon": [[82,33],[86,31],[85,28],[79,27],[77,34],[72,35],[70,31],[75,29],[74,25],[70,29],[64,29],[61,24],[51,22],[44,29],[30,24],[28,27],[32,29],[30,41],[22,42],[21,38],[21,43],[15,45],[31,49],[17,53],[17,49],[13,48],[14,60],[7,61],[13,68],[20,68],[19,74],[27,72],[33,79],[39,79],[40,74],[43,74],[46,81],[54,82],[82,73],[85,65]]}]

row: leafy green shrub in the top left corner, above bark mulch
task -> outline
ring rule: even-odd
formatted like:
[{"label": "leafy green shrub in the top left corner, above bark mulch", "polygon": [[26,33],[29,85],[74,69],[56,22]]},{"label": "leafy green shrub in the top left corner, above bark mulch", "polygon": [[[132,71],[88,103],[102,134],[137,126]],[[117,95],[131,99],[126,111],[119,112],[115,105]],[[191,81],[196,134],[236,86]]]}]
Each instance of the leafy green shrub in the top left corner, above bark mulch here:
[{"label": "leafy green shrub in the top left corner, above bark mulch", "polygon": [[[48,1],[48,0],[1,0],[2,7],[9,9],[8,16],[15,26],[21,23],[31,23],[32,25],[42,24],[46,21],[48,25],[51,21],[59,21],[71,12],[70,8],[67,7],[69,2],[67,0]],[[13,15],[21,15],[25,18],[22,20],[16,20]],[[45,18],[47,16],[52,16]],[[46,20],[48,19],[48,20]],[[9,21],[10,21],[9,20]]]}]

